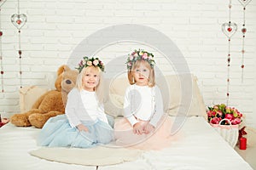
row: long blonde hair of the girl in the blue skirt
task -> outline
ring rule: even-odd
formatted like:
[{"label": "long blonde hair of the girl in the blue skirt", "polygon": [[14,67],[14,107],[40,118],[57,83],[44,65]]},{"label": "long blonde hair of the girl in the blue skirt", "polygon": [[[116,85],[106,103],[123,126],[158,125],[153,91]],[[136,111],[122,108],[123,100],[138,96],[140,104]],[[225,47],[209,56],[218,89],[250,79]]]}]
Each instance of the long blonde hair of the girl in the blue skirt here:
[{"label": "long blonde hair of the girl in the blue skirt", "polygon": [[103,103],[103,87],[104,87],[103,84],[104,84],[104,82],[103,82],[102,70],[100,67],[94,66],[94,65],[84,67],[77,77],[76,88],[78,88],[79,91],[84,89],[83,88],[83,77],[89,71],[96,71],[99,74],[99,82],[96,85],[94,90],[96,92],[96,96],[97,96],[99,103],[102,104]]}]

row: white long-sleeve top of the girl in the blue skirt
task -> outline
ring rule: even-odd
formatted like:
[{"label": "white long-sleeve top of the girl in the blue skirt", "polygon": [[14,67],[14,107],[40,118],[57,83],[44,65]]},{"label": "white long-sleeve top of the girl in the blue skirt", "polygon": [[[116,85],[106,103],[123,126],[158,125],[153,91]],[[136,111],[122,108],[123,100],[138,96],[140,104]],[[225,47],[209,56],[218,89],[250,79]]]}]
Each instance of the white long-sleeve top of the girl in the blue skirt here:
[{"label": "white long-sleeve top of the girl in the blue skirt", "polygon": [[108,123],[103,105],[99,105],[95,92],[73,88],[67,94],[65,112],[71,127],[76,127],[83,121],[96,122],[96,119]]}]

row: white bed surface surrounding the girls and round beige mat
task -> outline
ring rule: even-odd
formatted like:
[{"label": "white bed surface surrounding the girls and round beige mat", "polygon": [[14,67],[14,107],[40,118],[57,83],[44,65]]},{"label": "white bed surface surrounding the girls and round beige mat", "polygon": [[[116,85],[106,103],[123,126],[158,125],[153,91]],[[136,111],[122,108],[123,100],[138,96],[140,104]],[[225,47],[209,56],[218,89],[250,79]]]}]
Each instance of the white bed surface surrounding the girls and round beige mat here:
[{"label": "white bed surface surrounding the girls and round beige mat", "polygon": [[[28,153],[30,150],[40,148],[36,145],[39,131],[40,129],[34,127],[15,127],[11,123],[1,127],[0,168],[10,170],[96,169],[96,167],[46,161],[31,156]],[[187,118],[179,133],[183,138],[174,142],[170,148],[146,151],[137,161],[127,161],[98,167],[98,169],[253,170],[203,117]]]}]

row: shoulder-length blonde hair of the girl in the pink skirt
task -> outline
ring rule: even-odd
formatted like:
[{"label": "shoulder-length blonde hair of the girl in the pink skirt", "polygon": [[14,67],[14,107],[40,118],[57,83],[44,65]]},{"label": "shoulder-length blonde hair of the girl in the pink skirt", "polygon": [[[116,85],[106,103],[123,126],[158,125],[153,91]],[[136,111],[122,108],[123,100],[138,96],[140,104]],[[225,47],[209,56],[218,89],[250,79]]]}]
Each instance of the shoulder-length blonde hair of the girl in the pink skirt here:
[{"label": "shoulder-length blonde hair of the girl in the pink skirt", "polygon": [[144,59],[138,59],[132,66],[131,70],[128,70],[128,80],[130,84],[135,84],[136,80],[134,78],[134,70],[138,68],[140,65],[145,65],[149,70],[149,77],[148,77],[148,87],[152,88],[155,85],[155,76],[154,76],[154,68],[149,65],[148,61],[145,61]]}]

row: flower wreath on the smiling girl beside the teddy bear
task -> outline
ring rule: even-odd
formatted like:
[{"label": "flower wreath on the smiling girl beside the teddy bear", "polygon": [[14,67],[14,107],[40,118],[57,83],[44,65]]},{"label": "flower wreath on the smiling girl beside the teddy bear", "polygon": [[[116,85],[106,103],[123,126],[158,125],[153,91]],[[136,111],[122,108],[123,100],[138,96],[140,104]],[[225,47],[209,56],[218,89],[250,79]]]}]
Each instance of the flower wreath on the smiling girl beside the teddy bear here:
[{"label": "flower wreath on the smiling girl beside the teddy bear", "polygon": [[104,71],[105,66],[102,60],[100,60],[99,58],[93,58],[93,57],[89,59],[86,56],[80,61],[79,67],[77,67],[76,69],[78,69],[79,72],[81,72],[84,69],[84,67],[86,68],[87,66],[91,66],[91,65],[98,66],[102,72]]}]

